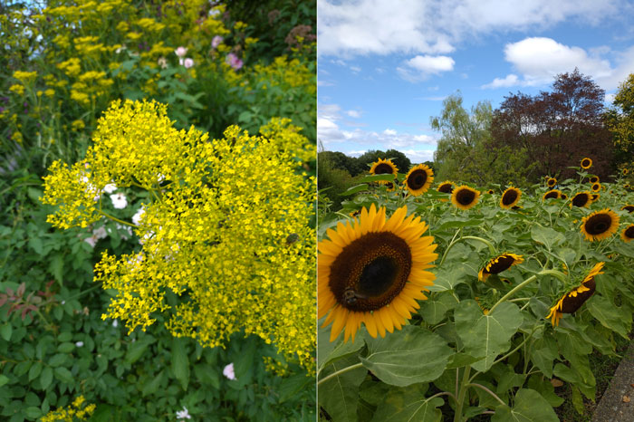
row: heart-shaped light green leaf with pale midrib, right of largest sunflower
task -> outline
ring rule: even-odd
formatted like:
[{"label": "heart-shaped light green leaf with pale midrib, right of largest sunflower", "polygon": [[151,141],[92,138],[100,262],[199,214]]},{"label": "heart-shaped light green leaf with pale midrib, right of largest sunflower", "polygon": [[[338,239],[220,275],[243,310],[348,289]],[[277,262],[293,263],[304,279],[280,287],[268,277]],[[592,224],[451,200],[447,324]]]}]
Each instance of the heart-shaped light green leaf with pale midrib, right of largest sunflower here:
[{"label": "heart-shaped light green leaf with pale midrib, right of largest sunflower", "polygon": [[511,338],[524,321],[517,305],[511,302],[503,302],[485,315],[476,301],[466,300],[460,302],[454,317],[466,353],[485,358],[473,365],[481,372],[491,368],[497,355],[509,349]]}]

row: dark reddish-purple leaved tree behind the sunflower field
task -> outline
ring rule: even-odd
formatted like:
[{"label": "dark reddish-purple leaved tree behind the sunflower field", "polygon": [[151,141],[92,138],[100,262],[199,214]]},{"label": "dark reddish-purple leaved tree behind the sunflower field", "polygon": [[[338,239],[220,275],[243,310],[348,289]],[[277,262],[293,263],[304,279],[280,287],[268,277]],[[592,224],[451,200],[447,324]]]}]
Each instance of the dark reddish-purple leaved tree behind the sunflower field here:
[{"label": "dark reddish-purple leaved tree behind the sunflower field", "polygon": [[491,145],[525,147],[529,161],[537,163],[531,175],[534,181],[544,175],[574,177],[568,167],[578,167],[584,157],[592,159],[588,171],[605,180],[612,141],[601,120],[604,96],[590,77],[575,69],[557,75],[551,92],[504,97],[494,111]]}]

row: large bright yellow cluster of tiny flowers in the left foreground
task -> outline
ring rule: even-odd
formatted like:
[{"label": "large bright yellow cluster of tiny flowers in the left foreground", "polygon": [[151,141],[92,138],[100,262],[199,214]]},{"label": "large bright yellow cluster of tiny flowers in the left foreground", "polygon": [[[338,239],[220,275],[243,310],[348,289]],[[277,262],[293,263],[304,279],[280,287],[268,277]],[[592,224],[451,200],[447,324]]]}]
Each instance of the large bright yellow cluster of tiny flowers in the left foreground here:
[{"label": "large bright yellow cluster of tiny flowers in the left foreground", "polygon": [[165,105],[115,101],[93,135],[90,171],[53,164],[44,201],[61,206],[49,217],[58,226],[90,223],[94,194],[107,183],[155,197],[136,229],[142,251],[104,253],[95,267],[95,281],[118,292],[103,318],[145,329],[152,312],[169,310],[172,292],[181,297],[167,323],[174,335],[215,347],[244,330],[314,369],[315,231],[308,224],[316,184],[296,159],[314,147],[287,120],[272,121],[263,134],[233,126],[210,142],[193,127],[175,129]]}]

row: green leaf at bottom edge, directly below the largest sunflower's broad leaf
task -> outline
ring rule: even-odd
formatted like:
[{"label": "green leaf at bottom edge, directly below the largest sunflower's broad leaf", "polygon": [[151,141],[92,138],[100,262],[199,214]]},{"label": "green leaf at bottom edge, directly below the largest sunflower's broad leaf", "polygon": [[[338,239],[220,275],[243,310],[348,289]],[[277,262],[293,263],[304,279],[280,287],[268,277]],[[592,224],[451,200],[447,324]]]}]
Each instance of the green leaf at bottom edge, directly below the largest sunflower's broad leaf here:
[{"label": "green leaf at bottom edge, directly below the largest sunflower's broad leaf", "polygon": [[391,388],[379,402],[372,422],[440,422],[442,398],[425,398],[427,384],[415,384],[408,388]]}]

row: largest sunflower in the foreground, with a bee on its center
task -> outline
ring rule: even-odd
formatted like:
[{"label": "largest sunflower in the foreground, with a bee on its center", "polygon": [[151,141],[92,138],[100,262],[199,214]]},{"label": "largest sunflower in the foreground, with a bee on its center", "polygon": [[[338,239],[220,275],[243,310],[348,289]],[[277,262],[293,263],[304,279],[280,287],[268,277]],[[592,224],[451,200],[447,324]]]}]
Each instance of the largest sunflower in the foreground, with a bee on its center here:
[{"label": "largest sunflower in the foreground, with a bee on its center", "polygon": [[359,220],[328,229],[318,249],[319,318],[328,315],[331,341],[351,339],[363,322],[372,337],[400,328],[436,278],[427,268],[437,258],[427,224],[401,206],[386,221],[385,207],[361,209]]}]

